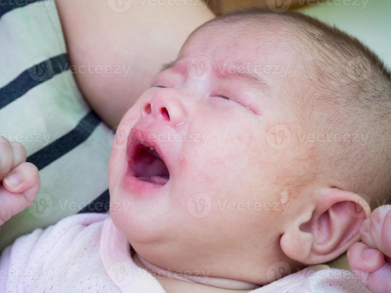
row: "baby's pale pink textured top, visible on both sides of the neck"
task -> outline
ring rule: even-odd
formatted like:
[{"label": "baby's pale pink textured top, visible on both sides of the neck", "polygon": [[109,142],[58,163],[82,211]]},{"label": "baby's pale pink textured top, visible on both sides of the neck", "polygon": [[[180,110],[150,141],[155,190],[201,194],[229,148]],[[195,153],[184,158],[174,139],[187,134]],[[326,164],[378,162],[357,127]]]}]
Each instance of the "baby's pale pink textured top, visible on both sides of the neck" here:
[{"label": "baby's pale pink textured top, visible on both sides of the neck", "polygon": [[[107,214],[70,216],[18,238],[1,255],[0,291],[165,292],[158,280],[134,263],[129,242]],[[352,273],[318,265],[251,292],[369,291]]]}]

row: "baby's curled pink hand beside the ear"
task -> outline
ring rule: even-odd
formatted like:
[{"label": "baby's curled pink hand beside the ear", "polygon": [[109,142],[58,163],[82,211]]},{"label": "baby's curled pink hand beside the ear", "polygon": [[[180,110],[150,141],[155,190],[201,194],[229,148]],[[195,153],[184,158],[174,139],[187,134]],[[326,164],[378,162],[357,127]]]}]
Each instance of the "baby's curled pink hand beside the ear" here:
[{"label": "baby's curled pink hand beside the ear", "polygon": [[391,292],[391,205],[375,209],[360,227],[362,242],[348,250],[353,274],[373,293]]}]

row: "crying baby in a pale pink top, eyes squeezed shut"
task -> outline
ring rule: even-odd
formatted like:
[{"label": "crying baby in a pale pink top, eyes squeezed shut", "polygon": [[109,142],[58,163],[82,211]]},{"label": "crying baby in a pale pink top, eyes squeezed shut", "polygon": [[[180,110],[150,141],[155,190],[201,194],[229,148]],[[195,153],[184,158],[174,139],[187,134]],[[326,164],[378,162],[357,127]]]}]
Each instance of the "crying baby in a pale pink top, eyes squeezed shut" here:
[{"label": "crying baby in a pale pink top, eyes squeezed shut", "polygon": [[[301,14],[253,10],[202,25],[122,118],[110,216],[71,216],[17,239],[0,259],[15,272],[1,288],[391,292],[388,206],[370,218],[391,194],[381,64]],[[4,223],[32,203],[39,175],[20,144],[0,148]],[[316,265],[348,248],[364,285]]]}]

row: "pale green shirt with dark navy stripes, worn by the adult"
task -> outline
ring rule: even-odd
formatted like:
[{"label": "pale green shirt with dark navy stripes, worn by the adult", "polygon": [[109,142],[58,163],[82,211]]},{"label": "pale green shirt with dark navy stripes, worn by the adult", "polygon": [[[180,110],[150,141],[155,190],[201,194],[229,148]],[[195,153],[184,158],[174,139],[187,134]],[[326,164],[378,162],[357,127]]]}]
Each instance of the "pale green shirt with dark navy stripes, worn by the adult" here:
[{"label": "pale green shirt with dark navy stripes, worn by the adult", "polygon": [[21,142],[41,177],[36,200],[0,229],[0,249],[76,213],[109,208],[113,132],[69,70],[53,0],[0,2],[0,135]]}]

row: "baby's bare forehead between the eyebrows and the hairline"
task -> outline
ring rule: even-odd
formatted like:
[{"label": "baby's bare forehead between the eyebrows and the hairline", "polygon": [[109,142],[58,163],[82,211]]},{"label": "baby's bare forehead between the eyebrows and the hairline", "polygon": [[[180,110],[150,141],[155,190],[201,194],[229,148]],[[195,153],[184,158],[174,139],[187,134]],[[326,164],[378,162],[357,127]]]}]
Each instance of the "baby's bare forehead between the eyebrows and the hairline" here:
[{"label": "baby's bare forehead between the eyebrows and the hairline", "polygon": [[190,35],[177,60],[206,57],[212,65],[240,68],[278,86],[297,66],[292,66],[294,48],[286,32],[273,25],[246,20],[208,23]]}]

